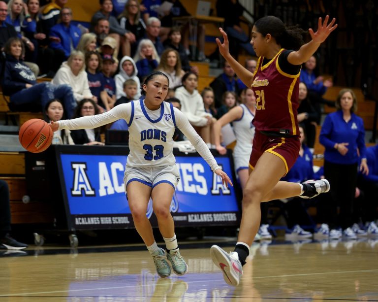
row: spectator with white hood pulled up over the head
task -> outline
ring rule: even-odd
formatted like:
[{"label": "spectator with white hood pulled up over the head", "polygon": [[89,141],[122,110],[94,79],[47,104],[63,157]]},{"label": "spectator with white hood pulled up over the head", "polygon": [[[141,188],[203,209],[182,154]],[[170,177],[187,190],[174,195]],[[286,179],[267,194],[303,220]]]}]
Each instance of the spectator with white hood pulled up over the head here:
[{"label": "spectator with white hood pulled up over the head", "polygon": [[128,79],[133,79],[137,85],[137,93],[134,97],[135,100],[140,99],[140,81],[138,78],[138,69],[136,68],[135,62],[129,56],[122,58],[120,62],[120,72],[116,74],[114,80],[116,81],[116,99],[121,97],[126,97],[124,91],[124,83]]}]

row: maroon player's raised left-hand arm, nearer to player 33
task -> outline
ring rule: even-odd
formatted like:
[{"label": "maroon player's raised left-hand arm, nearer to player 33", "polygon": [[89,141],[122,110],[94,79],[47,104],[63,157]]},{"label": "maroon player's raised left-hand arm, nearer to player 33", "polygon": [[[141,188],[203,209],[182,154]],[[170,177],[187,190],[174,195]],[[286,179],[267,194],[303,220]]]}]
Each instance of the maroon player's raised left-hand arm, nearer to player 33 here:
[{"label": "maroon player's raised left-hand arm, nearer to player 33", "polygon": [[223,29],[220,27],[219,31],[221,32],[223,36],[223,43],[221,43],[221,40],[219,38],[216,38],[219,52],[223,56],[223,58],[228,62],[228,64],[234,69],[237,76],[242,80],[244,84],[246,84],[248,87],[250,87],[250,83],[252,82],[253,73],[249,71],[248,69],[244,68],[238,61],[236,61],[230,54],[230,51],[228,49],[228,37],[227,34],[223,31]]}]

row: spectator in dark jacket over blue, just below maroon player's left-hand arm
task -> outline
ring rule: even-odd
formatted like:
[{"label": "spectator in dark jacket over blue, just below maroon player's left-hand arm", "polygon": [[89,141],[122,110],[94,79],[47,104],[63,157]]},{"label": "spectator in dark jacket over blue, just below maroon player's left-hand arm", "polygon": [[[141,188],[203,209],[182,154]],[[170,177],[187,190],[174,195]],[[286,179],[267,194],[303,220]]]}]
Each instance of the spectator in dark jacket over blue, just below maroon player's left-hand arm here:
[{"label": "spectator in dark jacket over blue, just below maroon player's left-hand arm", "polygon": [[226,91],[233,91],[237,95],[240,94],[239,86],[235,78],[235,71],[232,67],[224,61],[223,73],[210,83],[210,87],[214,90],[215,107],[219,108],[222,105],[222,96]]}]

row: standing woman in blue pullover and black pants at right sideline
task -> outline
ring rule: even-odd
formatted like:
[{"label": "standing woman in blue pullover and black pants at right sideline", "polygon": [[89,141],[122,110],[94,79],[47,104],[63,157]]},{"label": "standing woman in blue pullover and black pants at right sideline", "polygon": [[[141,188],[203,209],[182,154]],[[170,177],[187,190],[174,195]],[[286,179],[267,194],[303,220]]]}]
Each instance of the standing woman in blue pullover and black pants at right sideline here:
[{"label": "standing woman in blue pullover and black pants at right sideline", "polygon": [[[319,206],[319,214],[323,222],[330,225],[330,229],[342,227],[343,234],[339,231],[335,238],[344,235],[354,239],[356,234],[350,227],[353,224],[352,209],[357,181],[357,149],[362,159],[360,170],[364,174],[369,173],[364,122],[354,113],[357,110],[357,99],[351,89],[342,89],[339,92],[336,108],[336,112],[325,118],[319,136],[320,143],[325,147],[324,177],[332,188],[325,194]],[[335,235],[335,232],[332,233]]]}]

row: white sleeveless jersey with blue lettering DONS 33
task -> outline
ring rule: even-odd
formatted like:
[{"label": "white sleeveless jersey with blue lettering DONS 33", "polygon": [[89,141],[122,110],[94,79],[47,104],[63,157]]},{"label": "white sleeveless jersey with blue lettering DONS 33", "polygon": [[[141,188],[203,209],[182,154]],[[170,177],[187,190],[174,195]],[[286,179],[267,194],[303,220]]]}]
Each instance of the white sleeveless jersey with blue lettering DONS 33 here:
[{"label": "white sleeveless jersey with blue lettering DONS 33", "polygon": [[175,165],[172,152],[175,127],[172,104],[163,101],[159,110],[151,111],[144,105],[144,101],[132,101],[128,124],[130,153],[127,156],[127,166]]}]

